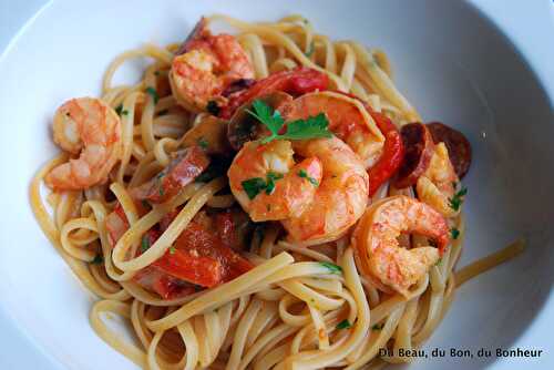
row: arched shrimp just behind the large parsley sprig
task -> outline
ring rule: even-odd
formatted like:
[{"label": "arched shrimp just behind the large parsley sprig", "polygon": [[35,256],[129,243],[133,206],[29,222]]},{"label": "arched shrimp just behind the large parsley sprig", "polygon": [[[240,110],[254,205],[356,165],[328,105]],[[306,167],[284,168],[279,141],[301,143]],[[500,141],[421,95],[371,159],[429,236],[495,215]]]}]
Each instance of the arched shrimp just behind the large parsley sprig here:
[{"label": "arched shrimp just behind the large parsley sprig", "polygon": [[379,158],[384,136],[363,104],[356,99],[330,91],[315,92],[295,99],[284,114],[291,121],[321,112],[327,115],[329,130],[362,158],[366,167]]}]

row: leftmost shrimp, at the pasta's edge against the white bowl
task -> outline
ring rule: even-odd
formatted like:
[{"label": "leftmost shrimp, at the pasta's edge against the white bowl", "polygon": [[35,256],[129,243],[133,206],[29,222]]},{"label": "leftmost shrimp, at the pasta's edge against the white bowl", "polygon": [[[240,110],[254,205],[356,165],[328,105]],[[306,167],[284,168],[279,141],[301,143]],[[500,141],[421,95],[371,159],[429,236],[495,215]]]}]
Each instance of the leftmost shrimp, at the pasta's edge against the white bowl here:
[{"label": "leftmost shrimp, at the pasta's edge against the white bowl", "polygon": [[53,134],[62,150],[80,156],[54,167],[47,185],[75,191],[107,179],[121,152],[121,122],[113,109],[94,97],[72,99],[55,112]]}]

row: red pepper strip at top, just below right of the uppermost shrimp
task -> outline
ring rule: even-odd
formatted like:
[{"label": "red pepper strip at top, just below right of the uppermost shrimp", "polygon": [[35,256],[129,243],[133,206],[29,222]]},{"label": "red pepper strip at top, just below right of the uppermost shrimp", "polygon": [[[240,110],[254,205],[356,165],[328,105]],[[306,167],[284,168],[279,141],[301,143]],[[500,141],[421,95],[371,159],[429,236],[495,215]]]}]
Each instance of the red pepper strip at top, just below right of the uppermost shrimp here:
[{"label": "red pepper strip at top, just below right of the uppermost shrimp", "polygon": [[316,90],[327,90],[328,85],[327,74],[307,66],[280,71],[257,81],[252,88],[232,95],[227,105],[222,107],[219,116],[228,120],[240,105],[277,91],[298,96]]}]

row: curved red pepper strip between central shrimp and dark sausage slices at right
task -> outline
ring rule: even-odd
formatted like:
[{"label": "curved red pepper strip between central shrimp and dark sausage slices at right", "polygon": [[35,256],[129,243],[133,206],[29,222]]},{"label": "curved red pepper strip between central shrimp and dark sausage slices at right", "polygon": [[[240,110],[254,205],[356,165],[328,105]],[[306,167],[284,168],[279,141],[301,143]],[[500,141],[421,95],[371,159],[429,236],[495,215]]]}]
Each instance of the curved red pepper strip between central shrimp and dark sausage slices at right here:
[{"label": "curved red pepper strip between central shrimp and dark sausage slices at right", "polygon": [[404,157],[404,145],[402,136],[394,124],[383,114],[372,112],[369,113],[377,123],[377,126],[384,135],[384,145],[379,161],[368,169],[369,174],[369,196],[381,187],[400,167]]}]

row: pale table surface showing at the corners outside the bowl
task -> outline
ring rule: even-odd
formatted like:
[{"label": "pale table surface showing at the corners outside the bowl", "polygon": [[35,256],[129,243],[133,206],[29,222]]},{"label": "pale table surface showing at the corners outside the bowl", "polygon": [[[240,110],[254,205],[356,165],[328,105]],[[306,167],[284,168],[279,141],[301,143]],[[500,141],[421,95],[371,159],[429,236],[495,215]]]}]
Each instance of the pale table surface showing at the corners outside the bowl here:
[{"label": "pale table surface showing at the corners outside the bowl", "polygon": [[[454,0],[448,0],[454,1]],[[48,1],[0,0],[0,51],[21,27]],[[496,23],[530,63],[543,82],[554,106],[554,1],[553,0],[470,0]],[[545,55],[546,54],[546,55]],[[553,122],[554,123],[554,122]],[[517,340],[517,347],[545,350],[535,369],[554,369],[554,298],[545,302],[530,329]],[[0,369],[61,369],[32,340],[18,330],[0,310]],[[525,368],[524,362],[501,360],[491,368],[511,370]]]}]

